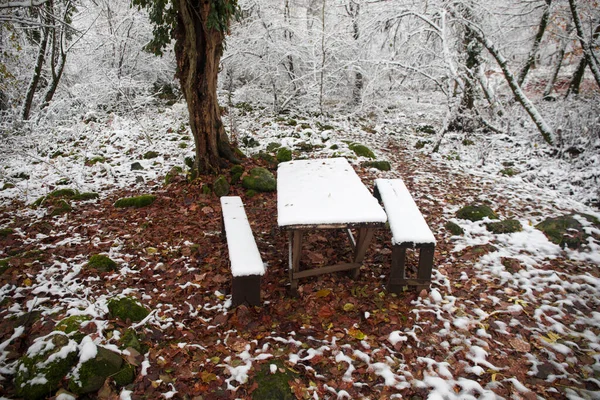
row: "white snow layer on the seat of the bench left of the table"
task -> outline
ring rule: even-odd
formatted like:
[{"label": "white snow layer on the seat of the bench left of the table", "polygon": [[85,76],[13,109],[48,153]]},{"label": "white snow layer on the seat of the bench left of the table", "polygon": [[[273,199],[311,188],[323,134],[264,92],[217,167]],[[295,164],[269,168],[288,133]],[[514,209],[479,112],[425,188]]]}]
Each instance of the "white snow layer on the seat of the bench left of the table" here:
[{"label": "white snow layer on the seat of the bench left of the table", "polygon": [[221,197],[221,209],[232,275],[264,275],[265,265],[256,246],[242,199],[238,196]]}]

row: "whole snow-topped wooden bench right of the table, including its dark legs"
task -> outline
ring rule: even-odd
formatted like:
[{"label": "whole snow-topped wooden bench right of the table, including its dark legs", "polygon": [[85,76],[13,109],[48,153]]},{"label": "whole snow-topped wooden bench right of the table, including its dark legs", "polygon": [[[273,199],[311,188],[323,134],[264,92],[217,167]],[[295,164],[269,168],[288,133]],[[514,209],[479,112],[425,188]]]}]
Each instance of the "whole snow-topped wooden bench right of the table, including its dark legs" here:
[{"label": "whole snow-topped wooden bench right of the table, including its dark legs", "polygon": [[[375,197],[383,203],[392,231],[392,267],[388,290],[428,289],[431,284],[435,238],[402,179],[376,179]],[[406,249],[419,249],[416,279],[405,276]]]}]

